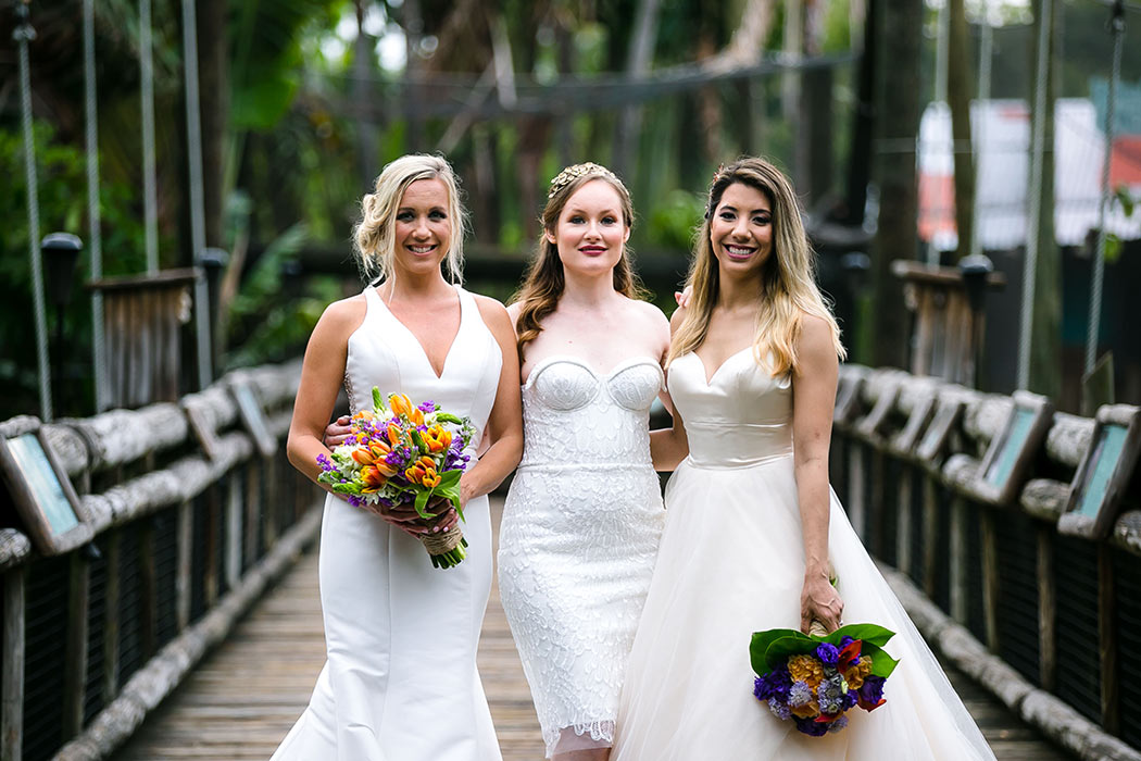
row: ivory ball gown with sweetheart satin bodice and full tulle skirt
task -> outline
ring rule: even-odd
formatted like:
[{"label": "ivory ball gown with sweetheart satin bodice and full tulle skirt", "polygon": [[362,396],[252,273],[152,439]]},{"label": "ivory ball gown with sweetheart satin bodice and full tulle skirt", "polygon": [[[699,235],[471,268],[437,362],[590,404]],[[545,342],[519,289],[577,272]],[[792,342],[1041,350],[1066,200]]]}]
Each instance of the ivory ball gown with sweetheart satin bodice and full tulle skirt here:
[{"label": "ivory ball gown with sweetheart satin bodice and full tulle skirt", "polygon": [[831,497],[828,551],[848,623],[896,632],[887,703],[808,737],[753,697],[750,635],[800,625],[804,550],[792,384],[745,349],[709,382],[687,354],[669,372],[689,458],[666,487],[654,581],[630,655],[613,761],[994,759],[926,643]]}]

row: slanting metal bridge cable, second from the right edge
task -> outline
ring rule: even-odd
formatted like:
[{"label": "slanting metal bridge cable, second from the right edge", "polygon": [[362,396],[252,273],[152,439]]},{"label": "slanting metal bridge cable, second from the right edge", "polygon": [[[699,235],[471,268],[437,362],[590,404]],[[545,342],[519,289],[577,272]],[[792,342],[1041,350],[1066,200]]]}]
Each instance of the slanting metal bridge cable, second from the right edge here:
[{"label": "slanting metal bridge cable, second from the right edge", "polygon": [[1022,268],[1022,314],[1018,337],[1018,387],[1030,384],[1030,339],[1034,326],[1035,276],[1038,269],[1038,222],[1042,219],[1042,153],[1046,129],[1046,50],[1050,44],[1053,0],[1042,0],[1034,87],[1034,130],[1030,138],[1030,209],[1026,219],[1026,259]]}]

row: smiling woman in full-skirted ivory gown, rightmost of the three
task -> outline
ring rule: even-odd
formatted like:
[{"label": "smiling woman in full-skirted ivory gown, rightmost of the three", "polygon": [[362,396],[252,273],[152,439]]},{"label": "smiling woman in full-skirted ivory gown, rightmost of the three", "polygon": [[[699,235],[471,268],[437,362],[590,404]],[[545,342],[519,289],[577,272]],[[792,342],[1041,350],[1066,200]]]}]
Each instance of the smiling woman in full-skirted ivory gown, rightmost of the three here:
[{"label": "smiling woman in full-skirted ivory gown, rightmost of the three", "polygon": [[[656,451],[688,456],[666,487],[617,761],[994,758],[828,487],[843,349],[812,269],[784,175],[753,157],[719,170],[671,321],[675,426]],[[897,632],[900,664],[883,706],[808,737],[753,697],[750,635],[841,616]]]}]

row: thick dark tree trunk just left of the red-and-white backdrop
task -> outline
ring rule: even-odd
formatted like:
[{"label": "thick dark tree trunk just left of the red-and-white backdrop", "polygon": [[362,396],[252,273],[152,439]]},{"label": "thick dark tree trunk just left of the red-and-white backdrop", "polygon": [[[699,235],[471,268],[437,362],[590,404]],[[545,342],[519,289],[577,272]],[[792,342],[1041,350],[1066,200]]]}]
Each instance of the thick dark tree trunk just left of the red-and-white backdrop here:
[{"label": "thick dark tree trunk just left of the red-and-white backdrop", "polygon": [[[879,5],[879,0],[877,5]],[[881,11],[882,13],[879,13]],[[882,0],[871,15],[880,24],[876,37],[874,135],[880,147],[873,177],[880,186],[879,233],[872,246],[872,363],[903,367],[907,340],[903,285],[891,274],[893,259],[914,259],[917,187],[914,146],[920,118],[920,40],[922,0]]]}]

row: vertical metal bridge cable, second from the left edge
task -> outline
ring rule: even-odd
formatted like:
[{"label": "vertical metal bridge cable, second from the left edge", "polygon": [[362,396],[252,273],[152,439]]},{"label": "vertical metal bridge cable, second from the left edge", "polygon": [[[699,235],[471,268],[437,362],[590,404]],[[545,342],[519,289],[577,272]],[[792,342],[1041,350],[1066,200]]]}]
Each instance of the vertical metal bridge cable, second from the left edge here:
[{"label": "vertical metal bridge cable, second from the left edge", "polygon": [[[103,225],[99,214],[99,133],[95,81],[95,1],[83,0],[83,97],[87,128],[87,217],[88,249],[91,252],[91,280],[103,277]],[[103,412],[107,400],[107,357],[104,351],[103,293],[91,298],[91,359],[95,365],[95,411]]]}]

